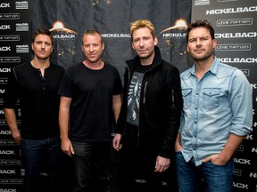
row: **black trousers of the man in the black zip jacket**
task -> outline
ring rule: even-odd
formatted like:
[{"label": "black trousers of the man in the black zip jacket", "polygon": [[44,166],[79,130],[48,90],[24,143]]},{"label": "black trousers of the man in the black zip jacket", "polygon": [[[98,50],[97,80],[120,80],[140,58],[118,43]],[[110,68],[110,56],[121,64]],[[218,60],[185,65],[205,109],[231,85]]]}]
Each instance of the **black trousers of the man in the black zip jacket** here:
[{"label": "black trousers of the man in the black zip jacket", "polygon": [[165,172],[154,172],[158,148],[137,148],[123,140],[120,151],[118,184],[120,192],[177,192],[177,176],[174,158]]}]

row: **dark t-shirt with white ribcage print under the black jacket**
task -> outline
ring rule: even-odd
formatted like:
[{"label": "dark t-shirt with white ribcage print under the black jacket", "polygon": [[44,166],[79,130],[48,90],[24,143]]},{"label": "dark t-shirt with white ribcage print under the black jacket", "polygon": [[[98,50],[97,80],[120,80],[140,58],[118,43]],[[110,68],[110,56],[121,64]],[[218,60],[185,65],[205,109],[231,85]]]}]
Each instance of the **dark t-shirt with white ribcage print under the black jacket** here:
[{"label": "dark t-shirt with white ribcage print under the black jacket", "polygon": [[139,124],[139,104],[144,74],[150,68],[152,65],[137,65],[129,84],[127,122],[135,126]]}]

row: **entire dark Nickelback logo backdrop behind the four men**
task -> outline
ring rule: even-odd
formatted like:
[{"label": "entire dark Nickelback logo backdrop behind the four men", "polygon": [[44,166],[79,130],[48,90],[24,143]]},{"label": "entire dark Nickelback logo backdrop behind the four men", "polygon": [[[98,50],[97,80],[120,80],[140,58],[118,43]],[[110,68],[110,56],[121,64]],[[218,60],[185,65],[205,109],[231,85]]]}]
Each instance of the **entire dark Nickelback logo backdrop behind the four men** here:
[{"label": "entire dark Nickelback logo backdrop behind the four men", "polygon": [[[256,68],[253,52],[256,52],[257,46],[256,30],[254,30],[257,26],[256,9],[256,1],[253,0],[1,1],[0,192],[18,191],[17,188],[21,186],[25,174],[21,164],[21,151],[14,145],[11,132],[4,120],[3,93],[11,68],[31,58],[31,31],[36,28],[51,29],[54,33],[54,52],[51,60],[64,68],[69,68],[84,60],[80,48],[83,32],[96,28],[104,37],[104,60],[118,68],[120,76],[123,77],[125,60],[135,56],[130,44],[129,23],[137,19],[148,19],[156,28],[162,58],[177,66],[182,72],[192,65],[186,51],[185,33],[192,11],[193,20],[196,18],[211,20],[219,42],[217,56],[225,63],[235,65],[245,72],[245,76],[253,84],[253,104],[255,105],[256,91],[254,90],[257,89],[257,80],[253,75]],[[18,100],[18,116],[21,115],[20,112]],[[256,123],[253,126],[255,127]],[[254,157],[256,157],[257,148],[254,140],[256,140],[256,133],[253,132],[237,149],[235,191],[257,191],[256,161],[253,161],[256,159]],[[114,178],[118,157],[113,152]],[[42,180],[47,178],[44,170],[41,172],[41,177]],[[68,177],[70,177],[69,173]],[[67,186],[67,181],[64,186]],[[144,179],[137,181],[144,183]],[[164,181],[163,185],[166,184]],[[62,191],[68,190],[68,188],[63,189]],[[38,191],[41,190],[44,191],[44,188],[38,188]],[[116,190],[113,186],[113,191]]]}]

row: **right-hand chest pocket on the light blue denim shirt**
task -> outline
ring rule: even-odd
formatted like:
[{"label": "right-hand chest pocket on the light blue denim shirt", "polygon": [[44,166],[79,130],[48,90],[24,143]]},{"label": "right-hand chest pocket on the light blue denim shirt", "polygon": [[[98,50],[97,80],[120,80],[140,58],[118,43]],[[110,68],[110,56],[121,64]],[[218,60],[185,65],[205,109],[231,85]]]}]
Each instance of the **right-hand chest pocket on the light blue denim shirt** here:
[{"label": "right-hand chest pocket on the light blue denim shirt", "polygon": [[220,89],[217,88],[203,89],[203,108],[206,110],[218,108],[220,103],[220,93]]}]

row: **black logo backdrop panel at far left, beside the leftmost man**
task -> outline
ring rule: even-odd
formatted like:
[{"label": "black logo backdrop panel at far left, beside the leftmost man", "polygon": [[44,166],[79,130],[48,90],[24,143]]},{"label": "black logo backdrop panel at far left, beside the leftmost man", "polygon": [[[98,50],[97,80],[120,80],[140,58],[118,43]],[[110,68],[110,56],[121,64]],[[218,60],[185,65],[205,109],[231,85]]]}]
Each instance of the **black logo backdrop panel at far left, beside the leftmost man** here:
[{"label": "black logo backdrop panel at far left, beside the leftmost man", "polygon": [[[1,0],[0,2],[0,191],[17,191],[24,170],[21,151],[15,146],[4,119],[3,95],[11,68],[30,60],[29,1]],[[21,110],[17,101],[18,124]]]}]

